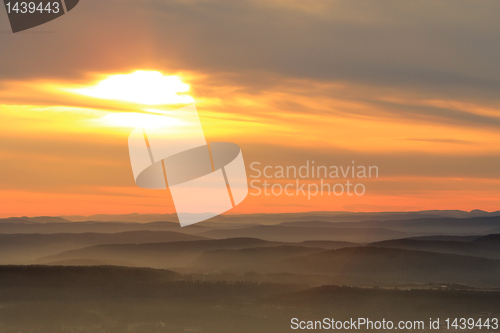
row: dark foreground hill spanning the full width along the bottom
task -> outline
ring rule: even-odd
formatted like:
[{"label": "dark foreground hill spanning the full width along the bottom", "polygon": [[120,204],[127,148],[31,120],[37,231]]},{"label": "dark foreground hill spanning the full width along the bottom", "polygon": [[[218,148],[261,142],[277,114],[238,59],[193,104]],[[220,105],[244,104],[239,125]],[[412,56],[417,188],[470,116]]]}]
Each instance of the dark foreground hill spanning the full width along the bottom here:
[{"label": "dark foreground hill spanning the full width along the bottom", "polygon": [[[0,267],[3,332],[296,332],[291,319],[497,317],[498,291],[223,281],[125,267]],[[429,330],[428,326],[423,331]],[[474,329],[470,332],[489,330]]]}]

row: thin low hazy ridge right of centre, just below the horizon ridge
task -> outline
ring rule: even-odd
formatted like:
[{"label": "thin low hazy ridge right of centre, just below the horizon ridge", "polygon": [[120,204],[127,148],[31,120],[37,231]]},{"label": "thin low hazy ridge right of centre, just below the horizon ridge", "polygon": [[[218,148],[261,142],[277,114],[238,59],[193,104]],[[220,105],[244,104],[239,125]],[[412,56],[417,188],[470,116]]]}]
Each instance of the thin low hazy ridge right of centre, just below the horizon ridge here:
[{"label": "thin low hazy ridge right of centre, just below the horizon ridge", "polygon": [[216,229],[199,235],[209,238],[254,237],[269,241],[303,242],[310,240],[347,241],[367,243],[404,238],[408,234],[382,228],[310,228],[285,226],[257,226],[241,229]]}]

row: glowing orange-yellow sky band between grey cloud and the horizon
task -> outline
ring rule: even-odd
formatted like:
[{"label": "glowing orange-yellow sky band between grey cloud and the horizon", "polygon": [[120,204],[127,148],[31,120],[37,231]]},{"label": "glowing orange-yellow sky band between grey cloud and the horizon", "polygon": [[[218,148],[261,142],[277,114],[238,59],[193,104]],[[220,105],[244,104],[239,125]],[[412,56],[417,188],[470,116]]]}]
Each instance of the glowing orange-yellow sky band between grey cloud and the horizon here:
[{"label": "glowing orange-yellow sky band between grey cloud and the horizon", "polygon": [[[184,83],[200,87],[207,80],[194,73],[173,74]],[[262,169],[267,165],[299,168],[307,160],[314,160],[316,165],[347,167],[354,160],[357,165],[379,168],[377,179],[349,177],[351,182],[365,185],[363,196],[328,192],[309,199],[301,193],[255,196],[257,190],[251,188],[234,212],[498,208],[500,180],[496,170],[484,165],[482,159],[499,153],[499,132],[429,120],[408,122],[384,115],[383,107],[369,103],[315,96],[318,89],[346,89],[326,85],[284,82],[279,89],[253,95],[224,86],[211,87],[207,94],[198,95],[195,89],[179,93],[196,100],[208,141],[241,145],[249,176],[256,175],[249,168],[253,162],[261,163]],[[95,86],[91,78],[88,86]],[[134,184],[127,136],[137,123],[127,115],[145,114],[142,110],[154,107],[175,109],[183,104],[175,98],[174,104],[161,106],[113,101],[70,91],[74,89],[82,88],[62,81],[17,81],[4,89],[3,96],[9,103],[0,107],[4,142],[0,156],[2,173],[9,177],[0,192],[5,204],[2,215],[173,212],[167,191],[145,190]],[[363,93],[362,87],[357,89]],[[286,110],[289,101],[293,101],[293,113]],[[426,103],[438,102],[411,101],[412,105]],[[481,105],[470,108],[487,112]],[[422,137],[428,140],[419,139]],[[463,163],[475,158],[477,163]],[[270,184],[294,181],[268,180]],[[345,180],[325,182],[333,186]]]}]

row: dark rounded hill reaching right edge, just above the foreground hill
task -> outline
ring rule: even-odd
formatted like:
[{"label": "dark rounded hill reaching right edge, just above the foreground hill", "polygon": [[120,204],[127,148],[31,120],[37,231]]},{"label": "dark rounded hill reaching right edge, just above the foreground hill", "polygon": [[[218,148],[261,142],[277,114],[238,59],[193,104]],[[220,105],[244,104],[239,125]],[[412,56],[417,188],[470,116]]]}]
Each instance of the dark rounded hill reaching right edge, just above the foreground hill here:
[{"label": "dark rounded hill reaching right edge, just above the foreground hill", "polygon": [[285,259],[266,272],[344,276],[346,283],[459,283],[500,287],[500,261],[376,247],[345,248]]}]

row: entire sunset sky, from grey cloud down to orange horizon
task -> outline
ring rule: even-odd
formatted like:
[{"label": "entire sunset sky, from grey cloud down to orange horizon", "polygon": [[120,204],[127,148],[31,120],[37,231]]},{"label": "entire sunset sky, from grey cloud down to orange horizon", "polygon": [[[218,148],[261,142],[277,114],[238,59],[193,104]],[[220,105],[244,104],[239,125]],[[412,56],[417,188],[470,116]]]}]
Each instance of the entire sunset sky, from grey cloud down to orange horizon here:
[{"label": "entire sunset sky, from grey cloud down to orange horizon", "polygon": [[[249,176],[254,162],[379,170],[351,179],[360,196],[250,189],[230,213],[500,210],[499,14],[498,1],[85,0],[12,34],[0,9],[0,217],[174,212],[168,191],[136,186],[127,137],[143,118],[123,114],[193,102]],[[137,73],[164,79],[166,100],[123,93]]]}]

